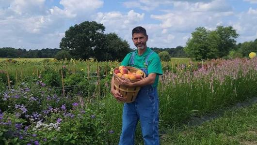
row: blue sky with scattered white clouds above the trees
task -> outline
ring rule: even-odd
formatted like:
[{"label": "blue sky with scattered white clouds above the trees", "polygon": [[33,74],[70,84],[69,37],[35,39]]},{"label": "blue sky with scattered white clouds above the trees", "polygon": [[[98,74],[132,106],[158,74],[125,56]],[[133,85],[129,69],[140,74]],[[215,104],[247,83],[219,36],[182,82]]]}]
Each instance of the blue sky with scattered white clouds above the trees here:
[{"label": "blue sky with scattered white clouds above the trees", "polygon": [[0,48],[59,48],[65,31],[84,21],[103,24],[130,48],[137,26],[149,47],[185,46],[195,28],[217,26],[232,26],[243,43],[257,39],[257,0],[0,0]]}]

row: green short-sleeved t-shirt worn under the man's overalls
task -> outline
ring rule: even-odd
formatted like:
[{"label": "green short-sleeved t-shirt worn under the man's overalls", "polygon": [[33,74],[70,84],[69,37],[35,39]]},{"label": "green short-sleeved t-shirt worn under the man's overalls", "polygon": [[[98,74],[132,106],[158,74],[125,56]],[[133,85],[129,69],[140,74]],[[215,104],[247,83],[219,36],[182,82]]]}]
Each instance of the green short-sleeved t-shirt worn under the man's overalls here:
[{"label": "green short-sleeved t-shirt worn under the man's overalls", "polygon": [[[151,52],[152,50],[147,47],[145,52],[142,55],[138,55],[137,50],[135,51],[135,56],[134,56],[134,65],[132,67],[142,69],[145,68],[145,57]],[[130,52],[126,55],[126,57],[122,60],[121,65],[124,66],[129,66],[129,61],[131,58],[133,52]],[[156,78],[155,82],[153,84],[153,87],[157,87],[158,85],[158,80],[159,80],[159,75],[162,75],[162,69],[161,69],[161,60],[159,58],[159,55],[155,52],[153,52],[149,57],[148,57],[148,66],[147,66],[147,71],[148,74],[150,73],[156,73]]]}]

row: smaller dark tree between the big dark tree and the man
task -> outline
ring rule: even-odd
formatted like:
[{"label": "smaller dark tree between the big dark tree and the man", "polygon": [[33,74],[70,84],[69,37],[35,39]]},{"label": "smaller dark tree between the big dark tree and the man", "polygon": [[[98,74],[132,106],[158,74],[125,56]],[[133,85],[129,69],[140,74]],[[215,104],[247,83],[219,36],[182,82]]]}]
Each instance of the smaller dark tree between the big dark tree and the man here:
[{"label": "smaller dark tree between the big dark tree and the man", "polygon": [[94,57],[98,61],[121,61],[131,51],[128,42],[119,38],[115,33],[106,34],[103,43],[103,47],[94,50]]}]

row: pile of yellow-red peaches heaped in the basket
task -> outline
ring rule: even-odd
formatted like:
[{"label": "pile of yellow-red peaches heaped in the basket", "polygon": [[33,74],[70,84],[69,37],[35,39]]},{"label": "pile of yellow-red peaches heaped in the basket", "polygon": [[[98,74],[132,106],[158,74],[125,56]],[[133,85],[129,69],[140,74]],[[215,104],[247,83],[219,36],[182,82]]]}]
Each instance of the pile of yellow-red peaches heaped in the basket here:
[{"label": "pile of yellow-red peaches heaped in the basket", "polygon": [[131,73],[125,66],[119,66],[119,69],[114,70],[114,73],[119,77],[128,78],[130,80],[142,79],[144,72],[142,70],[136,71],[136,73]]}]

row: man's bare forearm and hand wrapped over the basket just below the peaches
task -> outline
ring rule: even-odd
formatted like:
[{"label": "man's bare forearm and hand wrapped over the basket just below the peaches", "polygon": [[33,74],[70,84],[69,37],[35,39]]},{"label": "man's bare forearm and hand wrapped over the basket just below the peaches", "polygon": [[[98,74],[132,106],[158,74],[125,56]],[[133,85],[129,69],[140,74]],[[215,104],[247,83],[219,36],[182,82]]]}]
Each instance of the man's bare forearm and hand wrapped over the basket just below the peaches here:
[{"label": "man's bare forearm and hand wrapped over the basket just below the peaches", "polygon": [[119,84],[124,85],[124,86],[128,86],[128,87],[143,87],[146,85],[152,85],[154,84],[155,81],[155,77],[156,77],[156,73],[150,73],[146,78],[137,81],[137,82],[130,82],[129,79],[127,78],[119,78],[117,77],[117,81]]}]

